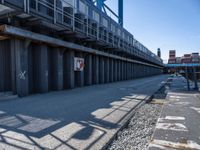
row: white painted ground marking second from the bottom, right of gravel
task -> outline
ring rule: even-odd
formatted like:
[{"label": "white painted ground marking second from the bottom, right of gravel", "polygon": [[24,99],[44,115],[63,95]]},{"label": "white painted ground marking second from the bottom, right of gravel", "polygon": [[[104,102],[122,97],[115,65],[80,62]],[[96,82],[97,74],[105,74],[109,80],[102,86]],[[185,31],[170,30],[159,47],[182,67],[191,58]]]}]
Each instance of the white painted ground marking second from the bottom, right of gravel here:
[{"label": "white painted ground marking second from the bottom, right of gravel", "polygon": [[156,128],[173,131],[188,131],[187,127],[181,123],[158,123]]}]

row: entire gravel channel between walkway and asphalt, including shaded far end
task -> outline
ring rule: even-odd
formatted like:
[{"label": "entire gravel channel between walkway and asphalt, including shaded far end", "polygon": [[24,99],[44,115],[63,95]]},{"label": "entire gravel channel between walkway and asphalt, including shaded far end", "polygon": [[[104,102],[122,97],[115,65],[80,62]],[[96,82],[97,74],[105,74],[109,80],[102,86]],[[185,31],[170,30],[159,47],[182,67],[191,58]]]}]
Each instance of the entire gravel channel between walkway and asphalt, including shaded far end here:
[{"label": "entire gravel channel between walkway and asphalt, including shaded far end", "polygon": [[157,119],[165,102],[171,79],[152,96],[151,100],[136,108],[132,118],[116,135],[106,149],[145,150],[153,135]]}]

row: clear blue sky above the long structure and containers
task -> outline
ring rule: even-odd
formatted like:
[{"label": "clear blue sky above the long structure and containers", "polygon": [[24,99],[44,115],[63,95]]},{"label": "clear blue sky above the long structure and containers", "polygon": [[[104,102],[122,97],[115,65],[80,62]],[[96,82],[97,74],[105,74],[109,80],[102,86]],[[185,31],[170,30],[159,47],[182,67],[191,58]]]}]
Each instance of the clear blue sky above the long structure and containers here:
[{"label": "clear blue sky above the long structure and containers", "polygon": [[[117,3],[106,2],[115,12]],[[164,60],[170,49],[200,52],[200,0],[124,0],[124,27]]]}]

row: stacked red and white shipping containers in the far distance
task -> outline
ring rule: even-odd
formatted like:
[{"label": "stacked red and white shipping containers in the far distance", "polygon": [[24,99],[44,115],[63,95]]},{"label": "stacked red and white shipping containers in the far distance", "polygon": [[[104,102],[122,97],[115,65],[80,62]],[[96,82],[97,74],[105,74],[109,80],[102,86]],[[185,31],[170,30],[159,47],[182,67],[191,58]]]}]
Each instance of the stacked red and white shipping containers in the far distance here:
[{"label": "stacked red and white shipping containers in the far distance", "polygon": [[199,53],[184,54],[182,57],[176,57],[176,50],[169,51],[168,64],[181,64],[181,63],[200,63]]}]

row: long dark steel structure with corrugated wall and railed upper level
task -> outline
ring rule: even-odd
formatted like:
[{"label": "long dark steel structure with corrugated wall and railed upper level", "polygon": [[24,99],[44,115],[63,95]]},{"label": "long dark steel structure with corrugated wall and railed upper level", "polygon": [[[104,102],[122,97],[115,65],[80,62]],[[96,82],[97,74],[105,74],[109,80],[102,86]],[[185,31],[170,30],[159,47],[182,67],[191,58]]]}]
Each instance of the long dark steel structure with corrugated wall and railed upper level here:
[{"label": "long dark steel structure with corrugated wall and railed upper level", "polygon": [[23,97],[162,69],[159,57],[91,0],[0,0],[0,92]]}]

